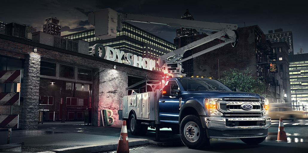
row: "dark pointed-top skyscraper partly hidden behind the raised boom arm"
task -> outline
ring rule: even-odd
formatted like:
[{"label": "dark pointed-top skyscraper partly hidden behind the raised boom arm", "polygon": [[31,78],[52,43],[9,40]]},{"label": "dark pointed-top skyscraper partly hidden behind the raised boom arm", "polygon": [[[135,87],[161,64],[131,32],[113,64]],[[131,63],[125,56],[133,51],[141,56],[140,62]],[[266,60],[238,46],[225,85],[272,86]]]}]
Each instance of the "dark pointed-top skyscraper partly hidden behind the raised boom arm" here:
[{"label": "dark pointed-top skyscraper partly hidden behind the raised boom arm", "polygon": [[[188,9],[181,16],[181,19],[184,20],[194,20],[193,16],[189,13]],[[174,44],[177,48],[188,45],[189,43],[195,41],[193,36],[199,35],[199,32],[193,28],[181,27],[176,29],[176,38],[174,38]],[[192,51],[188,50],[183,54],[183,59],[192,55]],[[182,62],[184,73],[187,76],[193,75],[193,59],[188,59],[187,61]]]}]

